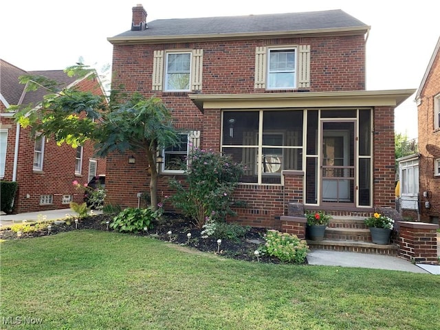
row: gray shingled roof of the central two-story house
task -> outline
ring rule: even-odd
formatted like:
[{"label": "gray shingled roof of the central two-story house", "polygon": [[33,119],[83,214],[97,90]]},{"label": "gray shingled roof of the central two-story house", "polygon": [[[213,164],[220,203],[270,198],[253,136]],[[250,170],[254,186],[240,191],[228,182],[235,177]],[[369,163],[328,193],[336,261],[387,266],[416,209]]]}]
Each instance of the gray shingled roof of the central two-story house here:
[{"label": "gray shingled roof of the central two-story house", "polygon": [[126,31],[117,37],[188,36],[204,34],[246,34],[264,32],[300,32],[365,28],[366,25],[342,10],[294,12],[236,17],[204,17],[196,19],[157,19],[147,23],[148,29]]}]

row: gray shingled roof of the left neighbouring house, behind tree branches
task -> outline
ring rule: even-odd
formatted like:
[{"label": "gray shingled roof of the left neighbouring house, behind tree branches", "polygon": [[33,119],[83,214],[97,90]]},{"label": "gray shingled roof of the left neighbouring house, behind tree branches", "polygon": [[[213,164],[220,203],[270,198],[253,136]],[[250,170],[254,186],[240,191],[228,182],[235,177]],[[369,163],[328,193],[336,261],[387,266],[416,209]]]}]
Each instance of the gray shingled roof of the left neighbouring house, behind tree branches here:
[{"label": "gray shingled roof of the left neighbouring house, behind tree branches", "polygon": [[[49,94],[49,91],[39,88],[36,91],[25,91],[25,85],[19,83],[19,76],[33,75],[45,76],[55,80],[60,85],[59,88],[67,87],[76,81],[76,77],[69,77],[63,70],[49,71],[25,71],[6,61],[0,59],[0,93],[10,105],[17,104],[38,104],[43,100],[43,96]],[[24,92],[24,94],[23,94]],[[23,100],[20,102],[21,97]]]}]

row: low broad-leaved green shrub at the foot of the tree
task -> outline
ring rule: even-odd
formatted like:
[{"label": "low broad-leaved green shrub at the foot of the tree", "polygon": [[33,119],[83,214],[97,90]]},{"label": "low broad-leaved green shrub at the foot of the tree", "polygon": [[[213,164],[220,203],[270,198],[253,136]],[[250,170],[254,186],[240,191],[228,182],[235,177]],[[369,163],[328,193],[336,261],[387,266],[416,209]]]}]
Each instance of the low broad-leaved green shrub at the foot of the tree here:
[{"label": "low broad-leaved green shrub at the foot of the tree", "polygon": [[162,208],[153,211],[148,208],[126,208],[109,224],[110,228],[119,232],[140,232],[144,228],[153,228],[153,222],[162,215]]}]

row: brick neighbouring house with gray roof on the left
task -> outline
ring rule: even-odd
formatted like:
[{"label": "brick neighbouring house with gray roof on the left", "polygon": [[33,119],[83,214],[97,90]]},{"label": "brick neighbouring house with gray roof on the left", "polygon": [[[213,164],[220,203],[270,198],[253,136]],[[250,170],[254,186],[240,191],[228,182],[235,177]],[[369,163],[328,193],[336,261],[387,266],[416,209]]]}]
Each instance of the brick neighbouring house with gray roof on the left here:
[{"label": "brick neighbouring house with gray roof on the left", "polygon": [[104,174],[105,159],[94,157],[90,143],[72,148],[66,144],[57,146],[41,134],[30,136],[30,128],[15,124],[14,113],[7,108],[32,104],[38,111],[39,102],[48,94],[44,89],[25,91],[19,76],[45,76],[61,83],[61,87],[78,87],[103,95],[99,79],[68,77],[63,70],[26,72],[3,60],[0,65],[0,179],[18,183],[14,212],[69,208],[70,201],[83,202],[84,192],[77,190],[72,181],[87,184],[94,175]]}]

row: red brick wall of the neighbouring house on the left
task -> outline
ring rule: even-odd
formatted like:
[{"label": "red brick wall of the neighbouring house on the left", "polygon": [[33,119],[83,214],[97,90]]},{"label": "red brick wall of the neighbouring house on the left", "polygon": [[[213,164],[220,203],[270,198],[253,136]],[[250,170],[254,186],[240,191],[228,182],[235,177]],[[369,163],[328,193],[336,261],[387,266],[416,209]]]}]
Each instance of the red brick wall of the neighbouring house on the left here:
[{"label": "red brick wall of the neighbouring house on the left", "polygon": [[[96,94],[101,91],[96,80],[83,80],[78,87],[91,90]],[[17,125],[12,119],[1,117],[1,126],[8,125],[8,146],[6,153],[5,181],[12,181],[14,166],[14,148]],[[77,190],[72,181],[87,184],[89,174],[89,158],[93,157],[94,148],[87,142],[83,148],[83,168],[81,175],[75,175],[76,149],[63,144],[57,146],[54,140],[45,141],[43,171],[33,170],[34,140],[30,137],[30,129],[20,128],[19,155],[17,178],[19,190],[14,201],[14,212],[39,212],[58,208],[69,208],[63,204],[63,195],[73,195],[74,201],[83,202],[83,190]],[[106,162],[98,159],[97,174],[105,174]],[[53,195],[53,203],[40,205],[40,195]]]}]

